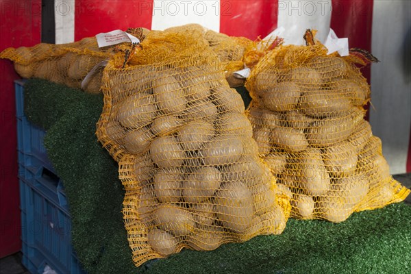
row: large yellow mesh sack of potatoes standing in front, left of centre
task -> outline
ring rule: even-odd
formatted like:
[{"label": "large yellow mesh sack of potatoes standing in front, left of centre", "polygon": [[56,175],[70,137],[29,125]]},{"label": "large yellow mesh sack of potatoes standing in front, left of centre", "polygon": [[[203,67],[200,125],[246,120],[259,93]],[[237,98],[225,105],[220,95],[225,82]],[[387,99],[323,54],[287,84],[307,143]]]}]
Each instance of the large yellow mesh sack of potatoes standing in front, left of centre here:
[{"label": "large yellow mesh sack of potatoes standing in front, left of centre", "polygon": [[97,138],[119,162],[136,266],[183,248],[279,234],[290,190],[258,157],[240,95],[195,29],[150,32],[103,75]]}]

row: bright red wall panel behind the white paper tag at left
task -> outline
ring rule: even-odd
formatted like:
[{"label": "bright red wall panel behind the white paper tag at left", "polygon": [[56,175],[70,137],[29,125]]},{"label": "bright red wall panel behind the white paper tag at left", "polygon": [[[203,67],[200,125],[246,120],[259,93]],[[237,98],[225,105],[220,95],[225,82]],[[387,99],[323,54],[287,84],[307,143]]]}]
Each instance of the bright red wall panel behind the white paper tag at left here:
[{"label": "bright red wall panel behind the white paper tag at left", "polygon": [[153,1],[76,0],[75,40],[128,27],[151,29]]}]

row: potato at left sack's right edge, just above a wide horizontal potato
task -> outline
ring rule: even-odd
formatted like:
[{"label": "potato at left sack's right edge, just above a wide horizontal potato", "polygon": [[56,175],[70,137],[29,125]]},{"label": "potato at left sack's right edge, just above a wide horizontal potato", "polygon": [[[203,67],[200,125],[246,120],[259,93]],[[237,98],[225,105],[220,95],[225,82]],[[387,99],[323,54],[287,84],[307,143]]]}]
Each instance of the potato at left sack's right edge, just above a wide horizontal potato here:
[{"label": "potato at left sack's right edge, just above a wide horizontal potato", "polygon": [[217,127],[221,135],[253,137],[253,127],[245,114],[238,112],[226,112],[217,121]]}]

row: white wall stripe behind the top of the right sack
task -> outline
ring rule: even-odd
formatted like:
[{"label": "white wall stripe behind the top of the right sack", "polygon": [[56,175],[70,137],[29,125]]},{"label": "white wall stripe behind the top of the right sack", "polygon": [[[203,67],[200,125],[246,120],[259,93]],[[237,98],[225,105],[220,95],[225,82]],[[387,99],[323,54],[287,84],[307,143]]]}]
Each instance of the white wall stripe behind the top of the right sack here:
[{"label": "white wall stripe behind the top of the right sack", "polygon": [[318,30],[316,38],[325,42],[331,21],[331,0],[278,1],[278,27],[284,27],[284,44],[303,45],[306,29]]}]

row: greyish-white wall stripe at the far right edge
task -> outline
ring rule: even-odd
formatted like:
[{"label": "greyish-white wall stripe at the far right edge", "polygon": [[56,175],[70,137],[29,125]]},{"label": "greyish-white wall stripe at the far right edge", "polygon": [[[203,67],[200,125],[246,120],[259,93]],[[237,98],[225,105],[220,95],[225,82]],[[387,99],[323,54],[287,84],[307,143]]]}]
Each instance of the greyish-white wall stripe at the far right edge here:
[{"label": "greyish-white wall stripe at the far right edge", "polygon": [[405,45],[406,34],[411,32],[410,10],[410,1],[374,1],[371,46],[381,62],[371,66],[375,110],[370,110],[370,123],[373,134],[382,139],[391,174],[406,172],[410,140],[411,60],[410,45]]}]

